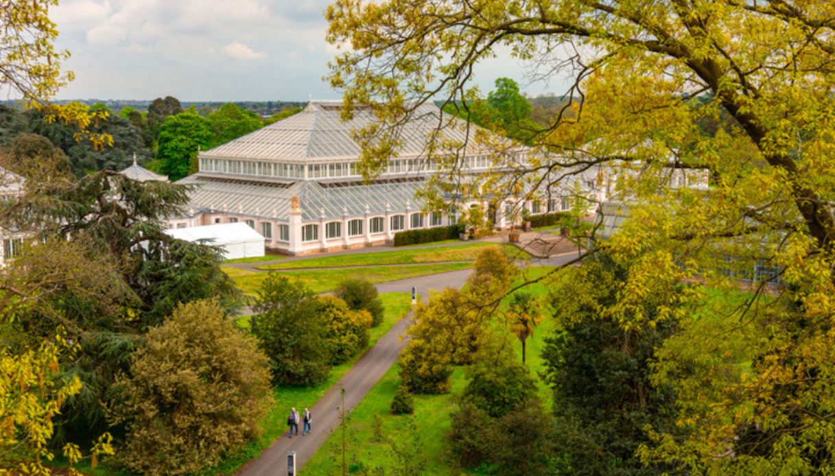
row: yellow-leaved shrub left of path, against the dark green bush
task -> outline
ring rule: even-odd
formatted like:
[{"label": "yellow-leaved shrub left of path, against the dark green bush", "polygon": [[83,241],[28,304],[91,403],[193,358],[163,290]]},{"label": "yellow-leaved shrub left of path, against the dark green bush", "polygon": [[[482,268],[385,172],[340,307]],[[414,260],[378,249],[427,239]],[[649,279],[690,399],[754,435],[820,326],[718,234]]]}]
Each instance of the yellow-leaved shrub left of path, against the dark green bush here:
[{"label": "yellow-leaved shrub left of path, against the dark green bush", "polygon": [[352,311],[345,301],[336,296],[320,296],[318,299],[321,322],[327,326],[331,363],[347,362],[368,346],[368,330],[373,318],[364,309]]}]

